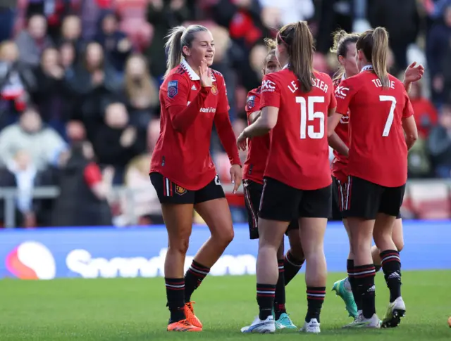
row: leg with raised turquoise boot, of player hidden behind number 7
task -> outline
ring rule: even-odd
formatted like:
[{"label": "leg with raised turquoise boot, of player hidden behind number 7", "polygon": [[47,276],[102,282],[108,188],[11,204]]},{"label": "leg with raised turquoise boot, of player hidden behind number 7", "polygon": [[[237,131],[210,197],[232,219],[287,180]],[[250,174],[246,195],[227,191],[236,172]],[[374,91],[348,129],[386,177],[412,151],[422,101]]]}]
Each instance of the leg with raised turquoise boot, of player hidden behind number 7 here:
[{"label": "leg with raised turquoise boot, of player hidden behind number 7", "polygon": [[[350,252],[347,255],[346,269],[347,269],[347,277],[343,278],[340,281],[333,283],[332,290],[335,291],[337,296],[340,296],[342,300],[345,302],[346,310],[349,316],[357,319],[359,316],[360,302],[355,300],[356,297],[353,295],[353,288],[356,290],[355,281],[354,281],[354,254],[352,253],[351,247],[351,238],[350,238],[350,229],[347,224],[347,219],[343,219],[343,225],[345,225],[347,237],[350,240]],[[357,297],[358,298],[358,297]]]}]

